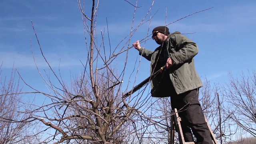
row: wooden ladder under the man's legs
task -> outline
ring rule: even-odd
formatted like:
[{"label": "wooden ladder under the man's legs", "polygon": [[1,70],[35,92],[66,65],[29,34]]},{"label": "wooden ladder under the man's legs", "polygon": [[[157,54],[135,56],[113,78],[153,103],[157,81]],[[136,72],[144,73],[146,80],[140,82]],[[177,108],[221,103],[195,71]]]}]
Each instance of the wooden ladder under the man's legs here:
[{"label": "wooden ladder under the man's legs", "polygon": [[[205,118],[205,121],[207,122],[207,126],[211,132],[211,138],[212,138],[212,142],[213,144],[218,144],[213,132],[212,132],[212,129],[208,123],[208,121],[206,120]],[[183,133],[182,133],[182,129],[181,129],[181,126],[180,126],[180,122],[181,122],[181,118],[178,116],[178,112],[177,112],[177,109],[175,108],[174,110],[172,110],[171,112],[171,140],[170,140],[170,144],[174,144],[174,128],[176,130],[176,132],[178,132],[178,137],[179,137],[179,142],[180,144],[196,144],[195,142],[185,142],[184,140],[184,136],[183,136]]]}]

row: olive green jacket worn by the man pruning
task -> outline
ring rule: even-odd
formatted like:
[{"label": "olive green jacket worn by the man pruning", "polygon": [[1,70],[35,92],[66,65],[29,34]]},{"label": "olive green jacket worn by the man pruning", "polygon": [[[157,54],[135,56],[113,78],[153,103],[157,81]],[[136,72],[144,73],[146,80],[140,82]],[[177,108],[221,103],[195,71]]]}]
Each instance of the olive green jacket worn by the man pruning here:
[{"label": "olive green jacket worn by the man pruning", "polygon": [[[174,65],[168,69],[170,80],[174,86],[177,94],[181,94],[188,90],[193,90],[203,86],[202,81],[195,68],[194,56],[198,54],[198,46],[180,32],[174,32],[166,38],[164,46],[159,46],[156,50],[151,51],[141,48],[139,54],[149,60],[150,74],[156,71],[154,68],[158,62],[157,54],[159,51],[164,50],[164,57],[172,58]],[[158,86],[159,77],[153,78],[151,81],[151,94],[153,97],[166,97],[170,96],[170,90],[161,89]],[[161,91],[161,94],[153,91]],[[166,94],[166,95],[165,95]]]}]

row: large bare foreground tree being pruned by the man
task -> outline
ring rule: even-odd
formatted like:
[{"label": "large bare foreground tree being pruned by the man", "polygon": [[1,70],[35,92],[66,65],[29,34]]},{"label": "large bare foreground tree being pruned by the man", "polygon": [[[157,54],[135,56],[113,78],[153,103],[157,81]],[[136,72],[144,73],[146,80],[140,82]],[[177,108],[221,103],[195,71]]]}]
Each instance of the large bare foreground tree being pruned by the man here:
[{"label": "large bare foreground tree being pruned by the man", "polygon": [[[152,5],[153,3],[154,1]],[[39,121],[38,125],[40,125],[41,129],[35,133],[35,136],[41,136],[40,143],[118,144],[128,143],[130,140],[132,140],[132,143],[141,141],[140,135],[142,134],[138,132],[144,128],[143,126],[141,127],[141,124],[144,122],[144,118],[147,117],[138,111],[136,107],[141,106],[140,98],[142,95],[137,95],[133,98],[122,98],[121,86],[126,70],[128,53],[126,53],[121,74],[118,74],[118,71],[112,68],[112,63],[115,62],[116,56],[124,54],[124,51],[128,52],[128,49],[123,49],[130,43],[130,38],[138,27],[144,24],[149,12],[146,13],[145,18],[136,28],[132,26],[130,34],[122,40],[125,43],[122,48],[117,46],[112,50],[110,47],[110,50],[106,52],[105,30],[101,31],[99,35],[96,31],[99,1],[92,0],[91,4],[92,6],[89,7],[91,11],[88,12],[88,10],[84,9],[84,2],[78,0],[84,22],[88,59],[85,65],[82,63],[84,72],[80,76],[75,76],[71,84],[66,84],[60,71],[58,73],[54,71],[47,61],[32,23],[41,54],[49,66],[50,73],[58,83],[54,83],[52,76],[48,73],[44,76],[37,65],[38,72],[50,92],[43,92],[34,88],[20,75],[26,86],[33,91],[16,92],[17,94],[36,93],[44,96],[46,100],[42,105],[35,106],[36,108],[34,109],[23,111],[24,113],[30,113],[29,117],[20,118],[20,120],[12,119],[12,122]],[[138,8],[137,4],[134,4],[135,11],[136,8]],[[88,43],[87,40],[89,40]],[[117,52],[117,48],[119,52]],[[137,135],[136,139],[131,137],[133,134]]]}]

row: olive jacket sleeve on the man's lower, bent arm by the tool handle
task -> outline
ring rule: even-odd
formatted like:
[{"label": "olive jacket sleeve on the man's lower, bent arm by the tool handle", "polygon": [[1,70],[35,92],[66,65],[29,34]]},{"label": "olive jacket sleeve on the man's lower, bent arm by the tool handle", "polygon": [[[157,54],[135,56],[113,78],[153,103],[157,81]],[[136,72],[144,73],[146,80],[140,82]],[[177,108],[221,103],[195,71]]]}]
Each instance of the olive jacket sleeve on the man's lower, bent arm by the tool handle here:
[{"label": "olive jacket sleeve on the man's lower, bent arm by the tool handle", "polygon": [[180,48],[169,56],[174,60],[174,64],[182,64],[198,54],[197,44],[182,34],[172,36],[170,41],[176,42],[177,46]]}]

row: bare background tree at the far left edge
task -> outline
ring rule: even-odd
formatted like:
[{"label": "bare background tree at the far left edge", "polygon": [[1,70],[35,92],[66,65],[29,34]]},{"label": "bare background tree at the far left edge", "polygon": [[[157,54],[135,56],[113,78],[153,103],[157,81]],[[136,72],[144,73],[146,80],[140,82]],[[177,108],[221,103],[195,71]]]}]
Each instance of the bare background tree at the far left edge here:
[{"label": "bare background tree at the far left edge", "polygon": [[2,76],[1,67],[0,71],[0,144],[28,143],[32,140],[32,123],[16,122],[30,116],[24,113],[27,106],[21,102],[19,78],[15,70],[10,78]]}]

